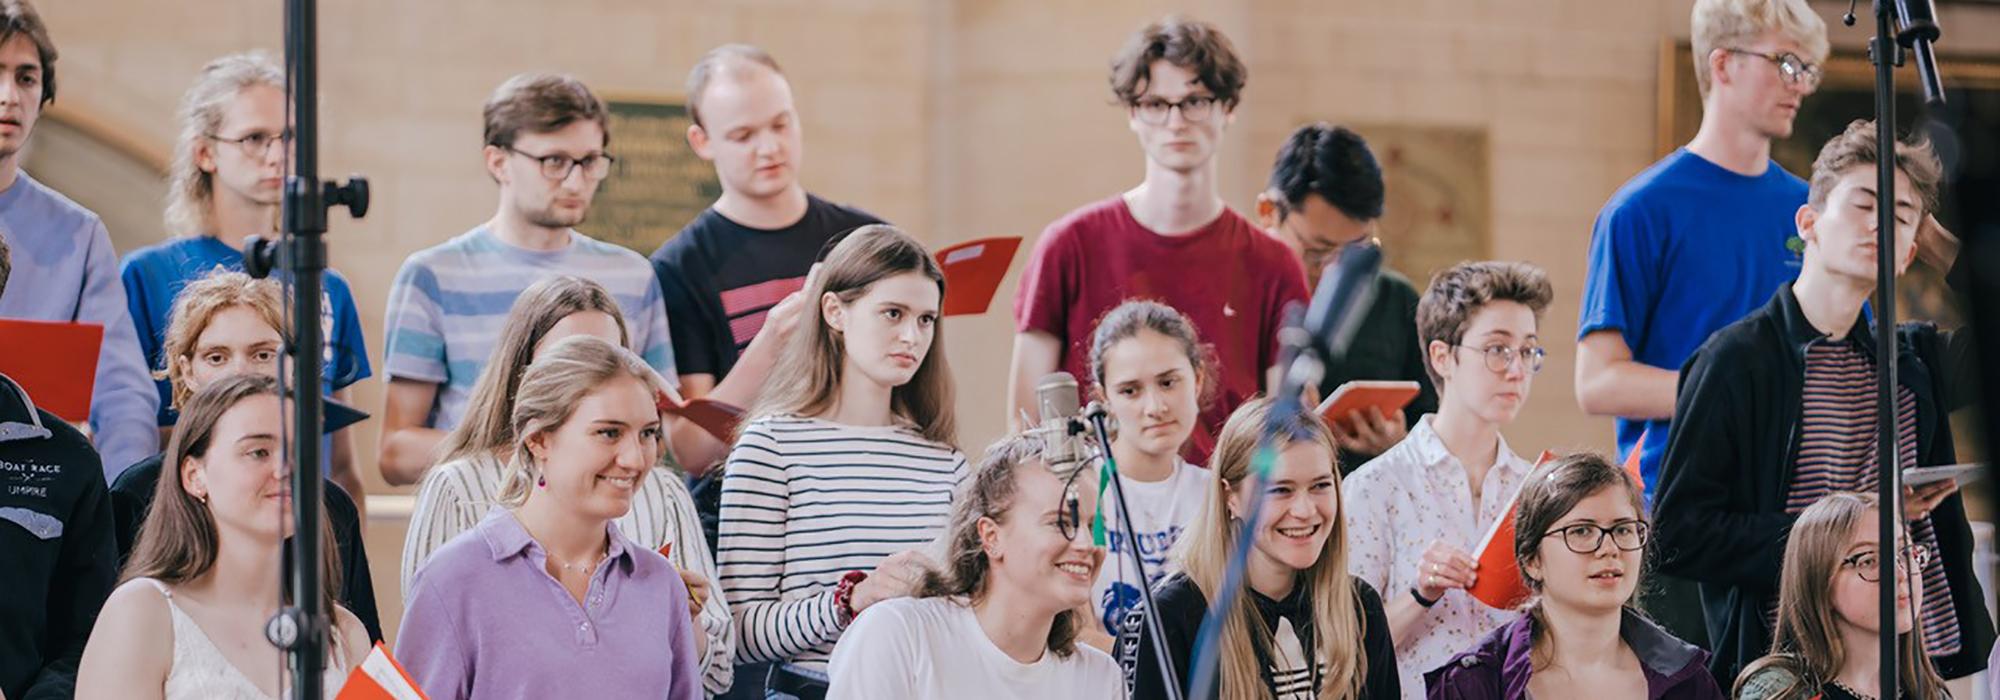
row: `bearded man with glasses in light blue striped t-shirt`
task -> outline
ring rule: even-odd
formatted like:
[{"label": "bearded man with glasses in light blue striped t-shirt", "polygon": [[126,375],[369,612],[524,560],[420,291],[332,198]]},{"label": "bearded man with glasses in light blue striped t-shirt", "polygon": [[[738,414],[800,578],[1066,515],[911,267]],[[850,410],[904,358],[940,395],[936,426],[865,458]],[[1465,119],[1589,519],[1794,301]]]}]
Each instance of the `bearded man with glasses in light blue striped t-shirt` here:
[{"label": "bearded man with glasses in light blue striped t-shirt", "polygon": [[500,184],[490,220],[404,260],[390,288],[382,478],[414,484],[464,416],[514,296],[556,274],[602,284],[632,348],[676,376],[666,306],[646,258],[572,226],[612,170],[610,112],[560,74],[508,78],[486,100],[486,174]]}]

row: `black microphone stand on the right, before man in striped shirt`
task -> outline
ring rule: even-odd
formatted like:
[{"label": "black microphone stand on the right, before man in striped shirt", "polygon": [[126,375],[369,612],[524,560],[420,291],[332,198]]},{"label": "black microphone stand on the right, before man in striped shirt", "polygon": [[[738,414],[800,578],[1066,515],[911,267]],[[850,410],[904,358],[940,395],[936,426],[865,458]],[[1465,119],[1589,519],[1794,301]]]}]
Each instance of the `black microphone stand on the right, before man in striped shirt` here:
[{"label": "black microphone stand on the right, before man in striped shirt", "polygon": [[[1890,26],[1890,12],[1902,32]],[[1882,510],[1876,542],[1884,556],[1880,560],[1880,594],[1876,598],[1882,620],[1896,618],[1896,568],[1902,562],[1902,454],[1896,450],[1896,66],[1902,66],[1902,50],[1916,54],[1918,82],[1924,88],[1924,102],[1944,104],[1944,84],[1938,80],[1938,62],[1930,52],[1930,42],[1938,30],[1930,0],[1874,0],[1876,36],[1868,40],[1868,60],[1876,78],[1876,464],[1880,468],[1876,502]],[[1842,18],[1854,26],[1852,0]],[[1922,226],[1922,224],[1918,224]],[[1918,572],[1908,572],[1918,576]],[[1880,632],[1882,688],[1878,698],[1900,698],[1900,664],[1896,650],[1896,626],[1884,624]],[[1922,630],[1916,630],[1922,638]]]}]

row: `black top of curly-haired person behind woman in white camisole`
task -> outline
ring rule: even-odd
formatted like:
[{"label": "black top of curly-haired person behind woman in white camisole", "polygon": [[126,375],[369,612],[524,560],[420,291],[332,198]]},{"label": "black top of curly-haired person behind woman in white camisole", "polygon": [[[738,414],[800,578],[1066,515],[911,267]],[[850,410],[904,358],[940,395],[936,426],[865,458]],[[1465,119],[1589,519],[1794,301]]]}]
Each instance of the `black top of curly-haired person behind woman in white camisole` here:
[{"label": "black top of curly-haired person behind woman in white camisole", "polygon": [[[160,454],[132,464],[118,474],[112,482],[112,512],[118,522],[118,562],[132,556],[132,546],[138,544],[138,526],[146,522],[146,510],[152,508],[154,488],[160,484]],[[382,640],[382,616],[376,612],[374,604],[374,576],[368,574],[368,550],[362,548],[362,518],[360,510],[354,508],[354,498],[348,496],[334,482],[320,482],[326,490],[326,526],[334,530],[334,548],[340,554],[340,604],[348,608],[362,626],[368,628],[368,640]],[[286,554],[286,564],[290,564],[290,552]],[[286,582],[290,588],[290,580]]]}]

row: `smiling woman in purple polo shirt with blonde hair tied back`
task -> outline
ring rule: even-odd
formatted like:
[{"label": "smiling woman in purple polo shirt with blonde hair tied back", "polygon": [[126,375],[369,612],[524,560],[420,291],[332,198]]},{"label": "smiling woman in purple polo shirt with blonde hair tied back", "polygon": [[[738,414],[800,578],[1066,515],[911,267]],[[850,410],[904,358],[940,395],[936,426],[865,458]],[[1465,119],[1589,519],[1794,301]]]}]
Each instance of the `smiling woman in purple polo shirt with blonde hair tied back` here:
[{"label": "smiling woman in purple polo shirt with blonde hair tied back", "polygon": [[700,698],[700,604],[612,524],[658,462],[664,390],[636,354],[590,336],[528,366],[504,508],[410,582],[396,658],[426,694]]}]

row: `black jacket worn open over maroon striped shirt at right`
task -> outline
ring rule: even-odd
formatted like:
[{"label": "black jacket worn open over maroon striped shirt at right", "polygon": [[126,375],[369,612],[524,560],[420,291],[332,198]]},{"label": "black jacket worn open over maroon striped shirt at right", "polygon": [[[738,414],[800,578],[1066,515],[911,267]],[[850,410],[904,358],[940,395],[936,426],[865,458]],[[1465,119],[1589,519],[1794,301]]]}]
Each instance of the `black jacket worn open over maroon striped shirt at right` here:
[{"label": "black jacket worn open over maroon striped shirt at right", "polygon": [[[1940,334],[1932,324],[1896,328],[1896,382],[1916,398],[1916,460],[1952,464],[1948,416],[1970,400],[1954,368],[1968,334]],[[1784,544],[1794,516],[1784,512],[1798,454],[1804,408],[1806,346],[1824,338],[1800,312],[1792,286],[1770,304],[1718,330],[1680,372],[1674,428],[1660,462],[1654,504],[1656,554],[1666,574],[1702,588],[1710,670],[1726,688],[1748,662],[1770,650],[1764,604],[1778,594]],[[1874,336],[1856,322],[1852,340],[1874,354]],[[1948,360],[1952,358],[1952,360]],[[1958,610],[1964,648],[1938,658],[1946,678],[1986,668],[1994,626],[1972,578],[1972,526],[1954,494],[1930,514],[1944,574]]]}]

